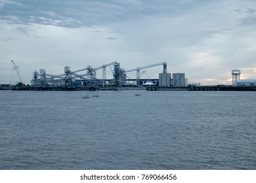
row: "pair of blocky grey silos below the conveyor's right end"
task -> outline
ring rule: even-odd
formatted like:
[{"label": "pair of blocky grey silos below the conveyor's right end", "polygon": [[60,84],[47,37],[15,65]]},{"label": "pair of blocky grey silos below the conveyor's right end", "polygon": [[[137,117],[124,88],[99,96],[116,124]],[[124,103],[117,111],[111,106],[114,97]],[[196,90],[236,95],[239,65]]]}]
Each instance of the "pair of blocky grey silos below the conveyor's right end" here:
[{"label": "pair of blocky grey silos below the conveyor's right end", "polygon": [[159,86],[160,87],[184,87],[186,86],[185,73],[160,73],[159,74]]}]

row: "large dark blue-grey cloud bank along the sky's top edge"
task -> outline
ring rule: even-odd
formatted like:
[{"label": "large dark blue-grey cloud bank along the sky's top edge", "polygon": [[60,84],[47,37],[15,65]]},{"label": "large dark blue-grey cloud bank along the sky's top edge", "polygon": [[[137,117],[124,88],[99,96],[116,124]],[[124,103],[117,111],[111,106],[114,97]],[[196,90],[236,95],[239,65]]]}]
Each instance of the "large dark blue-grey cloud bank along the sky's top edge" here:
[{"label": "large dark blue-grey cloud bank along the sky's top edge", "polygon": [[[179,16],[209,3],[201,1],[13,1],[2,5],[0,18],[15,24],[46,24],[63,27],[104,25],[136,21],[145,16]],[[18,3],[17,3],[18,2]],[[17,17],[12,19],[11,16]]]}]

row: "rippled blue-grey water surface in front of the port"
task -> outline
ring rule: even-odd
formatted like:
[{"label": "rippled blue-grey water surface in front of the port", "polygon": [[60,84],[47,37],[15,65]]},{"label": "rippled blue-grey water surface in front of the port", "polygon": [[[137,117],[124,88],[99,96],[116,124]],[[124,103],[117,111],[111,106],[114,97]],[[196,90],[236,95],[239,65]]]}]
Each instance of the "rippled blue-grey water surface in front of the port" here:
[{"label": "rippled blue-grey water surface in front of the port", "polygon": [[0,91],[0,169],[256,169],[255,100],[255,92]]}]

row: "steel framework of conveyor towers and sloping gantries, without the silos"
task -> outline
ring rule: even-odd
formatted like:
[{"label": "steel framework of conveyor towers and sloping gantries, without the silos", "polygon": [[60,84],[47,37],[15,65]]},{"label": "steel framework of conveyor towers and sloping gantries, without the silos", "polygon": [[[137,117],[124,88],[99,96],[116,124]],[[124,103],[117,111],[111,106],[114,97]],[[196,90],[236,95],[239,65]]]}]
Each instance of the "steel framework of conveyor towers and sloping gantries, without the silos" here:
[{"label": "steel framework of conveyor towers and sloping gantries, without the silos", "polygon": [[[110,66],[114,66],[114,69]],[[100,67],[93,68],[90,65],[83,69],[72,71],[71,67],[65,66],[64,73],[61,75],[51,75],[46,72],[46,69],[39,69],[33,72],[32,86],[62,86],[62,87],[71,87],[71,86],[89,86],[89,87],[98,87],[99,85],[104,87],[106,82],[109,82],[114,86],[122,86],[126,82],[126,73],[137,71],[137,85],[140,84],[140,69],[146,69],[150,67],[156,67],[158,65],[163,65],[163,73],[167,73],[167,63],[156,63],[153,65],[146,65],[143,67],[137,67],[136,69],[131,69],[125,71],[121,69],[120,63],[116,61],[102,65]],[[110,67],[113,73],[112,82],[109,79],[106,79],[106,67]],[[102,69],[102,78],[96,78],[96,71]],[[86,71],[85,73],[81,73]]]}]

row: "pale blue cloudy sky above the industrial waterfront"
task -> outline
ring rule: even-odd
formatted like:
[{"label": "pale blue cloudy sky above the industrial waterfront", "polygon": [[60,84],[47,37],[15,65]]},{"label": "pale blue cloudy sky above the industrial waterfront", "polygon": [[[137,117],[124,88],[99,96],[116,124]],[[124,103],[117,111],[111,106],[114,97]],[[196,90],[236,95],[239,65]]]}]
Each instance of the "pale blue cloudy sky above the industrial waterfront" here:
[{"label": "pale blue cloudy sky above the industrial waterfront", "polygon": [[[26,84],[39,69],[117,61],[125,70],[167,62],[168,73],[215,85],[232,84],[236,68],[256,79],[255,59],[255,0],[0,0],[0,84],[19,81],[11,60]],[[163,68],[144,71],[152,79]]]}]

